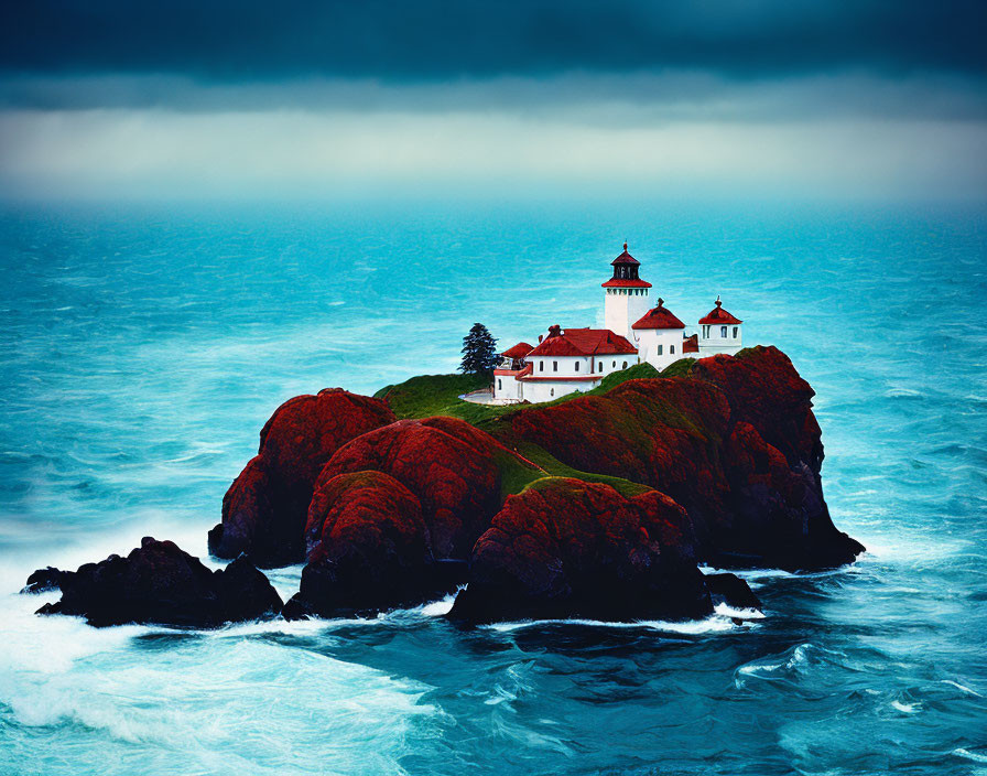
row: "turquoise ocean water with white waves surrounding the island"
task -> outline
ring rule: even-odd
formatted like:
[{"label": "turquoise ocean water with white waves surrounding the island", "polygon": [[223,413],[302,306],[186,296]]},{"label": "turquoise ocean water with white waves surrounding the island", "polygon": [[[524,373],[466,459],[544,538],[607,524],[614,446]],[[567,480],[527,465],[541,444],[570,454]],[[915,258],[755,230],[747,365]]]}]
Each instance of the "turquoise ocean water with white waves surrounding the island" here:
[{"label": "turquoise ocean water with white waves surrounding the island", "polygon": [[[856,565],[747,574],[766,617],[95,630],[39,565],[206,556],[286,398],[601,323],[627,239],[817,391]],[[0,773],[987,774],[987,217],[502,203],[0,213]],[[272,573],[285,596],[299,569]]]}]

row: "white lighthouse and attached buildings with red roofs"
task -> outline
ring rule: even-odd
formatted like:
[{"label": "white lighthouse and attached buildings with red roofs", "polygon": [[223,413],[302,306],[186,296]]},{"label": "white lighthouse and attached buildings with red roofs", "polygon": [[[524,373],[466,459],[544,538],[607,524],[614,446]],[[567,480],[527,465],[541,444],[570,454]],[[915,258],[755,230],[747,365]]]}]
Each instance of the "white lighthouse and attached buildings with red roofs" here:
[{"label": "white lighthouse and attached buildings with red roofs", "polygon": [[651,306],[651,283],[639,277],[640,262],[623,252],[610,262],[614,277],[603,283],[605,328],[550,326],[538,345],[521,342],[501,354],[494,385],[470,401],[496,405],[558,399],[596,388],[614,371],[648,363],[664,369],[680,358],[734,355],[741,348],[744,322],[716,306],[698,320],[698,331],[686,334],[685,324],[659,298]]}]

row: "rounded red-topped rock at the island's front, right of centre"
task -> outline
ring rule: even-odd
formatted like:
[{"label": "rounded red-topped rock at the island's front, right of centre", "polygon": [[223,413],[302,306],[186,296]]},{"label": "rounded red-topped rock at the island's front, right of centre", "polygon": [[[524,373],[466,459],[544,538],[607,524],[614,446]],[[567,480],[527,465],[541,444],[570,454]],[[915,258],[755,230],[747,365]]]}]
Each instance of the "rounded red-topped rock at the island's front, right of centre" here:
[{"label": "rounded red-topped rock at the island's front, right of centre", "polygon": [[449,617],[701,617],[713,611],[685,511],[657,492],[551,477],[507,499],[477,541]]}]

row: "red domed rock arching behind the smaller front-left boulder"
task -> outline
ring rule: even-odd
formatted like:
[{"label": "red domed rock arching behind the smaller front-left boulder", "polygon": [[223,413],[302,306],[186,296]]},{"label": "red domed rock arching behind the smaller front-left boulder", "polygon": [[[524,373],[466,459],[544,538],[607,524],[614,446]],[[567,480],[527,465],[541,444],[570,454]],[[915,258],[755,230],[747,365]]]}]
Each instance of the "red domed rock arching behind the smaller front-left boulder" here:
[{"label": "red domed rock arching behind the smaller front-left boulder", "polygon": [[316,491],[340,474],[368,470],[389,474],[414,495],[438,560],[468,557],[500,509],[505,477],[519,470],[538,472],[462,420],[400,420],[341,446],[319,475]]}]

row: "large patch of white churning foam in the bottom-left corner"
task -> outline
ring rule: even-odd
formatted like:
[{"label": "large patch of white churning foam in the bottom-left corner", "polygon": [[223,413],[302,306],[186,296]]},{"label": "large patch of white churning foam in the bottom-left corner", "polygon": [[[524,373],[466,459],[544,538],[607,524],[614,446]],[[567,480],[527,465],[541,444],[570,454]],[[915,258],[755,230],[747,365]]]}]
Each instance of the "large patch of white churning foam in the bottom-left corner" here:
[{"label": "large patch of white churning foam in the bottom-left corner", "polygon": [[[324,622],[181,632],[159,648],[147,637],[180,632],[35,617],[43,599],[15,597],[19,605],[2,602],[0,703],[23,728],[98,732],[89,736],[98,756],[85,743],[79,755],[108,758],[105,773],[166,773],[175,758],[185,773],[235,773],[237,763],[261,774],[285,763],[294,773],[400,773],[408,736],[436,714],[421,702],[421,682],[256,637],[314,634]],[[61,772],[37,756],[39,773]],[[0,755],[0,772],[11,766]]]}]

